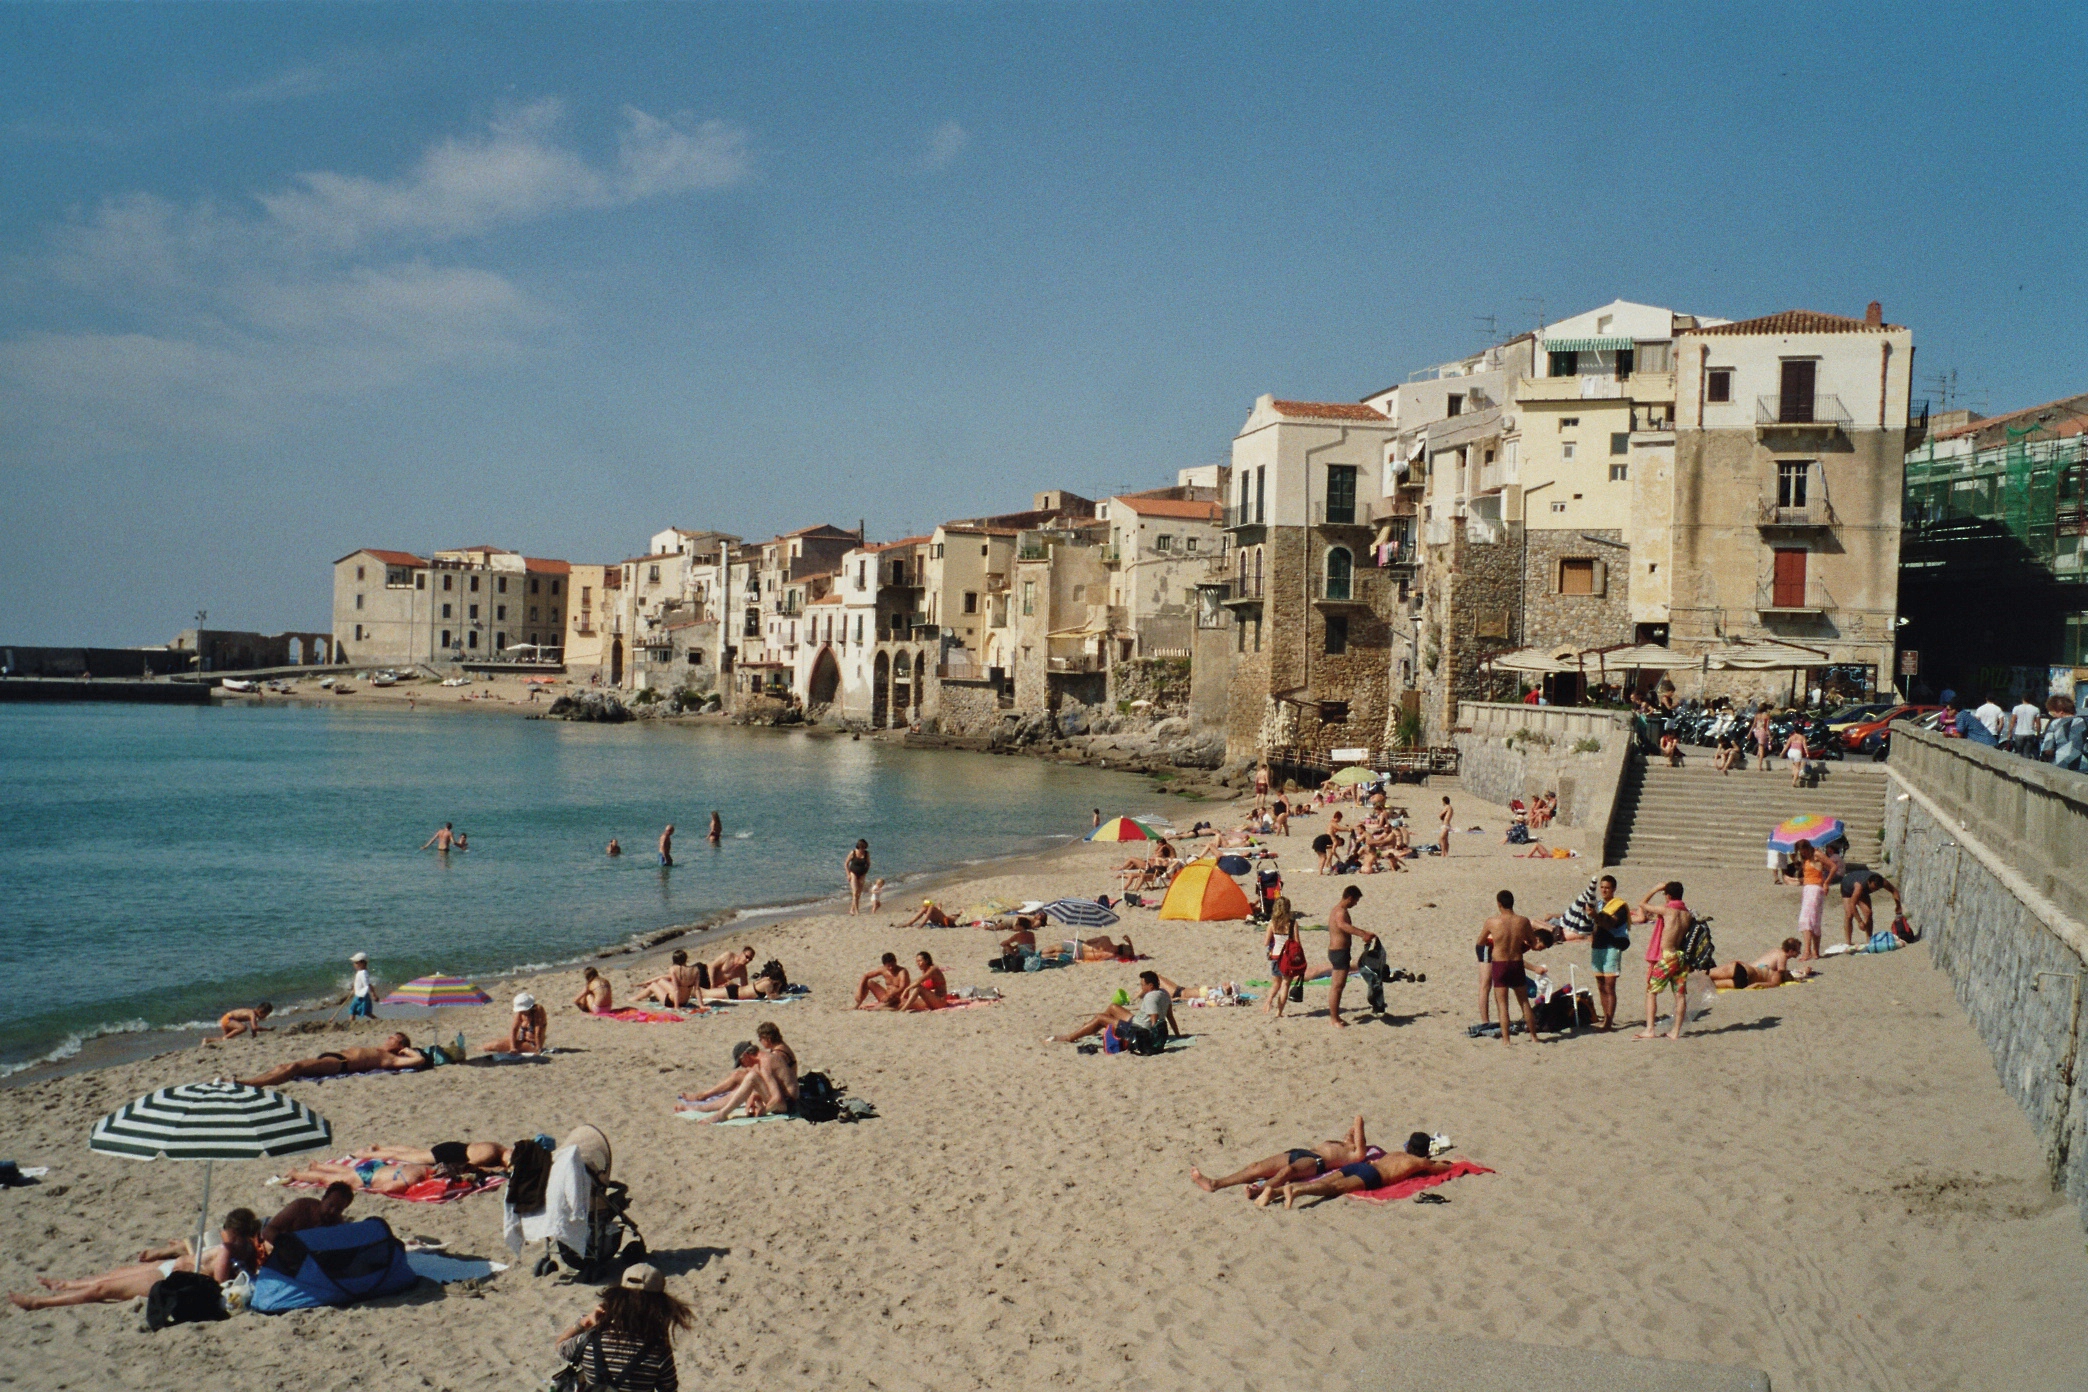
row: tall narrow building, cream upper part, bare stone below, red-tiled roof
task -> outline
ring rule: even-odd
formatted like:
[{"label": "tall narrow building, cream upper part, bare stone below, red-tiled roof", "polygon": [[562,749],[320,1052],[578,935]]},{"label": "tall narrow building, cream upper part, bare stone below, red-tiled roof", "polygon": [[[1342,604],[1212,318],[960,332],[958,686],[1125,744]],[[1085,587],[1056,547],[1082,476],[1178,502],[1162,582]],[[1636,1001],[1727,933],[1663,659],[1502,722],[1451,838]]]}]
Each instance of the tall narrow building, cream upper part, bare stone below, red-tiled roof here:
[{"label": "tall narrow building, cream upper part, bare stone below, red-tiled roof", "polygon": [[1232,440],[1226,753],[1384,747],[1399,589],[1368,488],[1395,426],[1361,403],[1261,397]]}]

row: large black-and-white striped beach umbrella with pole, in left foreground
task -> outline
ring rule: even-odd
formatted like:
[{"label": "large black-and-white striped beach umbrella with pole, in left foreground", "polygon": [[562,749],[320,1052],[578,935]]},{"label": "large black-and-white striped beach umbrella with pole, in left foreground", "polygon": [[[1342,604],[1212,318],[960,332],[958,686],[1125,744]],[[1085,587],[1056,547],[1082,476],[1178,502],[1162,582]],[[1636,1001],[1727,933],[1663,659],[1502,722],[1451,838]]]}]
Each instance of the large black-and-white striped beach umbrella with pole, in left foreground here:
[{"label": "large black-and-white striped beach umbrella with pole, in left foreground", "polygon": [[203,1160],[196,1254],[211,1221],[211,1165],[261,1160],[330,1146],[334,1127],[303,1102],[246,1083],[161,1087],[94,1123],[88,1150],[129,1160]]}]

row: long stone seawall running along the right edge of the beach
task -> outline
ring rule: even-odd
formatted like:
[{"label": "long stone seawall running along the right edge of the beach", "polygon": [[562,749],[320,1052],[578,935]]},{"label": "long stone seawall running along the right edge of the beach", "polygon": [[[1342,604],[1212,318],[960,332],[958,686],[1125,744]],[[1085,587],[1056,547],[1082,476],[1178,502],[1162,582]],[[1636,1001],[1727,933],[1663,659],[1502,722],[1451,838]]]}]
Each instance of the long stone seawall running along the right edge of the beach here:
[{"label": "long stone seawall running along the right edge of the beach", "polygon": [[1888,872],[2088,1223],[2088,776],[1892,735]]}]

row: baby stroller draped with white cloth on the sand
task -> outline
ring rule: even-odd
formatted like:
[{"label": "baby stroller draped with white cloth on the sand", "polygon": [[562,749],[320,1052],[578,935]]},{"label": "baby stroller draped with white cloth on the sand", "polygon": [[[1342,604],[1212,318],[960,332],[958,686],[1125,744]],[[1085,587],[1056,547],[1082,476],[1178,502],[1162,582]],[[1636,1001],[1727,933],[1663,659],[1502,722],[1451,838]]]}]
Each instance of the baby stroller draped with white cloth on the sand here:
[{"label": "baby stroller draped with white cloth on the sand", "polygon": [[[622,1265],[645,1256],[645,1235],[631,1219],[631,1187],[612,1177],[614,1156],[601,1127],[572,1129],[545,1154],[518,1142],[507,1183],[507,1246],[543,1240],[535,1275],[564,1265],[589,1286],[608,1283]],[[631,1242],[624,1242],[628,1231]]]}]

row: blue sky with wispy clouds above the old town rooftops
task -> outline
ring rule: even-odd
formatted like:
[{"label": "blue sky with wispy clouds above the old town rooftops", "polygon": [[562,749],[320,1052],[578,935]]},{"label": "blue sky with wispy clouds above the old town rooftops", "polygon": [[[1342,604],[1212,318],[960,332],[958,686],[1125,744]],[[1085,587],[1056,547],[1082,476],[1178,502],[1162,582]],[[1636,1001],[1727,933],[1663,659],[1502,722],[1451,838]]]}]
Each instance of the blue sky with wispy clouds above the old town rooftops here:
[{"label": "blue sky with wispy clouds above the old town rooftops", "polygon": [[[1656,17],[1650,17],[1656,15]],[[0,641],[1173,482],[1612,298],[2088,390],[2082,6],[0,6]],[[2067,309],[2073,305],[2075,309]]]}]

